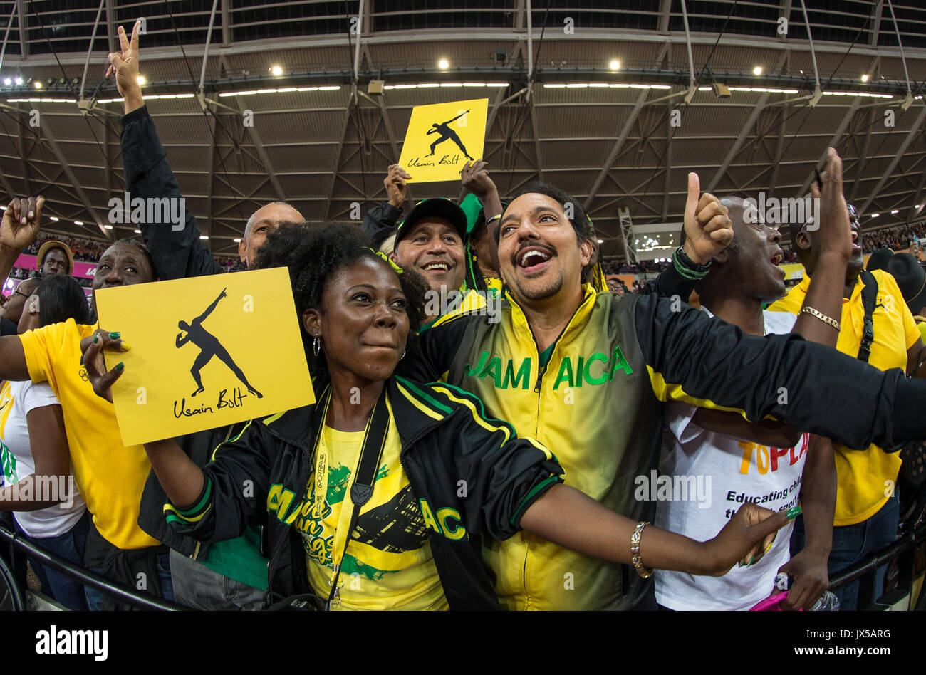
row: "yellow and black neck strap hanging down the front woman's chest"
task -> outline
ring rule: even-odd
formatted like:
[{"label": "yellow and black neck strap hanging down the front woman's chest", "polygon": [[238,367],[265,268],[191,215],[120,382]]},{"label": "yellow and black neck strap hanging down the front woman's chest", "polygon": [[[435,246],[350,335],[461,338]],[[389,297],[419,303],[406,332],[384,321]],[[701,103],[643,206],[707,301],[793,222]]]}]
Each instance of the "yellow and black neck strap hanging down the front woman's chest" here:
[{"label": "yellow and black neck strap hanging down the front woman's chest", "polygon": [[[363,443],[360,445],[360,457],[357,460],[357,471],[351,476],[348,482],[348,488],[344,494],[344,502],[341,505],[341,513],[338,516],[337,530],[334,532],[334,547],[332,551],[332,581],[329,581],[331,592],[328,594],[328,603],[326,609],[337,609],[341,606],[341,585],[338,579],[341,576],[341,562],[344,560],[344,554],[347,552],[347,546],[350,544],[351,534],[357,527],[357,517],[360,515],[360,508],[369,501],[373,494],[373,482],[376,480],[376,469],[382,462],[382,452],[386,444],[386,431],[389,429],[389,410],[386,406],[386,388],[383,386],[382,394],[367,420],[367,427],[363,434]],[[327,413],[328,404],[331,401],[331,394],[325,400],[324,410]],[[324,468],[324,482],[321,483],[319,491],[319,475],[313,476],[316,481],[315,503],[313,507],[319,507],[319,492],[324,499],[328,491],[328,464],[330,462],[329,449],[324,440],[324,419],[321,417],[321,424],[318,431],[318,458],[316,461],[316,471]]]}]

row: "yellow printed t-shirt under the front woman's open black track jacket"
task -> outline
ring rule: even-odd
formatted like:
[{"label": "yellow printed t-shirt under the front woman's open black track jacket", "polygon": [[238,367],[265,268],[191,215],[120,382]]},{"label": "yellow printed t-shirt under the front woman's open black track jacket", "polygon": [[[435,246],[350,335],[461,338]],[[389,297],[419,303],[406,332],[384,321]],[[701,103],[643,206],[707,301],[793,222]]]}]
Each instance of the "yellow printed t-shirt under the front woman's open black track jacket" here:
[{"label": "yellow printed t-shirt under the front woman's open black track jacket", "polygon": [[[317,594],[327,598],[334,535],[351,476],[357,470],[363,431],[336,431],[325,425],[323,434],[330,459],[321,518],[313,509],[296,519],[294,527],[302,533],[308,580]],[[399,462],[400,449],[395,425],[390,423],[373,494],[360,509],[354,538],[341,563],[341,609],[447,608],[427,527]],[[313,472],[308,481],[310,504],[315,498],[314,478]]]}]

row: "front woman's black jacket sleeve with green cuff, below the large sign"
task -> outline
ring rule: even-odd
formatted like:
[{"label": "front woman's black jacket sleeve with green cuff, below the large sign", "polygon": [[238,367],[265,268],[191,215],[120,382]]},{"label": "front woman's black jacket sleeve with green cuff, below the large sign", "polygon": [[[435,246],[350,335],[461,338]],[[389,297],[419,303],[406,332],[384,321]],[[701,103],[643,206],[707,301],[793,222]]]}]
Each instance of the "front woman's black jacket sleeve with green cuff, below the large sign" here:
[{"label": "front woman's black jacket sleeve with green cuff, below the large sign", "polygon": [[194,503],[164,506],[170,527],[203,542],[222,542],[259,524],[267,513],[269,458],[276,443],[252,419],[236,438],[220,444],[203,469],[203,491]]}]

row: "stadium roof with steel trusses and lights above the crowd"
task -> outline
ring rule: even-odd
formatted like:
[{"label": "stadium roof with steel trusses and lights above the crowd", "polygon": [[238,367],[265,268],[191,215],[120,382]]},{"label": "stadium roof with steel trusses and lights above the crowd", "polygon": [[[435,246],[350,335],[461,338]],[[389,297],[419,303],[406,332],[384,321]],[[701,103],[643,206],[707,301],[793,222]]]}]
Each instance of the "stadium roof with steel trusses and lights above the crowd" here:
[{"label": "stadium roof with steel trusses and lights above the crowd", "polygon": [[[799,196],[831,144],[864,227],[911,222],[926,206],[926,8],[914,1],[807,0],[811,50],[800,0],[688,0],[694,68],[681,0],[0,2],[0,186],[44,194],[52,231],[131,234],[106,228],[124,180],[122,106],[103,74],[112,27],[144,17],[147,105],[216,254],[232,255],[272,200],[307,219],[373,206],[413,106],[483,97],[483,156],[503,196],[534,179],[575,194],[606,256],[622,253],[619,209],[635,225],[682,219],[689,170],[715,194]],[[374,80],[382,95],[368,94]],[[410,190],[456,197],[459,185]]]}]

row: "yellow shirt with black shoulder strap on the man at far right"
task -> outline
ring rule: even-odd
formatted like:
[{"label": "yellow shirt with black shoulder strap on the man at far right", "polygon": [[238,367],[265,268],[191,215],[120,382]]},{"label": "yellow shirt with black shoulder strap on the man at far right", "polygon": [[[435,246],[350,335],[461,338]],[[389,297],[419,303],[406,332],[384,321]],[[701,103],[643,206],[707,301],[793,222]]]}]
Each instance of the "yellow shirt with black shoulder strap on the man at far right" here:
[{"label": "yellow shirt with black shoulder strap on the man at far right", "polygon": [[[878,281],[878,298],[871,315],[874,342],[871,344],[870,365],[879,370],[907,369],[907,349],[920,340],[920,331],[910,314],[897,282],[880,269],[871,272]],[[781,300],[769,306],[773,312],[797,314],[804,305],[810,278],[804,279]],[[843,330],[836,339],[836,349],[849,356],[858,356],[865,322],[862,306],[861,280],[852,289],[852,297],[843,298],[840,319]],[[833,393],[838,396],[838,393]],[[838,405],[834,401],[833,405]],[[833,444],[836,456],[836,513],[833,525],[855,525],[870,519],[893,494],[900,470],[898,453],[885,453],[877,445],[853,450]]]}]

